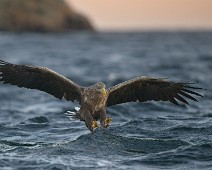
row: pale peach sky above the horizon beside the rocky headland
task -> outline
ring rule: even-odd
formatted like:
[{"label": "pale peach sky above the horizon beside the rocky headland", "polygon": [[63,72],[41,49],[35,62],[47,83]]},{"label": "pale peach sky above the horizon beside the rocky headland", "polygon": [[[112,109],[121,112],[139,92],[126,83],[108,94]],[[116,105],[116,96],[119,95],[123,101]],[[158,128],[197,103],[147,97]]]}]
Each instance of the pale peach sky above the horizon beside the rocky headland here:
[{"label": "pale peach sky above the horizon beside the rocky headland", "polygon": [[212,30],[212,0],[65,0],[97,30]]}]

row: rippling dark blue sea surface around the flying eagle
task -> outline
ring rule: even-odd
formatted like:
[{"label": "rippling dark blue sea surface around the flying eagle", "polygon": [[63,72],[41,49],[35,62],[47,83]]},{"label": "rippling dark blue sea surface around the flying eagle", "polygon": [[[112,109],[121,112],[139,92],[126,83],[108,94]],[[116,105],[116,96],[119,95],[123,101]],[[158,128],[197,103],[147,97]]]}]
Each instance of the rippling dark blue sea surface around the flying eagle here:
[{"label": "rippling dark blue sea surface around the flying eagle", "polygon": [[0,58],[49,67],[83,86],[148,75],[200,82],[189,106],[108,108],[108,129],[69,118],[77,103],[0,84],[0,169],[211,169],[212,32],[0,33]]}]

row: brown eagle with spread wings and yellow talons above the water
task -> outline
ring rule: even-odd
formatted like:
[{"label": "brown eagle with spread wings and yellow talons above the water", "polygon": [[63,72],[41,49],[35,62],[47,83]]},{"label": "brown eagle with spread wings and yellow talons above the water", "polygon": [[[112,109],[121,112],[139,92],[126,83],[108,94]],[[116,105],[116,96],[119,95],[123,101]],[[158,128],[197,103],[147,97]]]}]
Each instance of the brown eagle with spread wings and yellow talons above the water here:
[{"label": "brown eagle with spread wings and yellow talons above the water", "polygon": [[[0,60],[0,81],[18,87],[38,89],[58,99],[77,101],[80,109],[76,117],[85,122],[93,132],[96,127],[106,128],[111,118],[106,116],[106,107],[126,102],[170,101],[189,104],[187,99],[197,102],[201,96],[194,83],[171,82],[167,79],[141,76],[106,88],[103,82],[83,87],[70,79],[46,68],[30,65],[11,64]],[[100,122],[100,126],[98,124]]]}]

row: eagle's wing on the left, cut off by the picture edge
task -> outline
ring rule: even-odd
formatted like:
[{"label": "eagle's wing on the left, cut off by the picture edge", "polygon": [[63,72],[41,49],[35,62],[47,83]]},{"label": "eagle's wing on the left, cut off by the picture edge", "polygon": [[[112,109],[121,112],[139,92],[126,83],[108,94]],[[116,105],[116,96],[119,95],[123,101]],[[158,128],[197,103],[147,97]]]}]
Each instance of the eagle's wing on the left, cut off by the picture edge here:
[{"label": "eagle's wing on the left, cut off by the picture edge", "polygon": [[25,87],[38,89],[66,100],[81,99],[81,87],[64,76],[45,67],[10,64],[0,60],[0,81]]}]

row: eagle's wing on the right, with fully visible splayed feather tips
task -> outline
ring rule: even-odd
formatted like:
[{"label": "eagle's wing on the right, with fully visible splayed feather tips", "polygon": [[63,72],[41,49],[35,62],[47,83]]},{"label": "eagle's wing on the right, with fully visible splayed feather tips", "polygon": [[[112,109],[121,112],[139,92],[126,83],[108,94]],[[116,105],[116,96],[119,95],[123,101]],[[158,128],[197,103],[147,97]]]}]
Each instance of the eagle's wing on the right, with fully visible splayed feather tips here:
[{"label": "eagle's wing on the right, with fully visible splayed feather tips", "polygon": [[176,99],[188,104],[183,97],[197,101],[191,94],[202,96],[193,91],[196,89],[201,88],[193,87],[191,83],[174,83],[163,79],[138,77],[108,89],[109,96],[107,99],[107,106],[132,101],[145,102],[150,100],[170,101],[179,105]]}]

